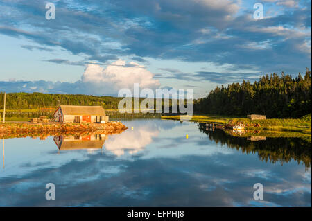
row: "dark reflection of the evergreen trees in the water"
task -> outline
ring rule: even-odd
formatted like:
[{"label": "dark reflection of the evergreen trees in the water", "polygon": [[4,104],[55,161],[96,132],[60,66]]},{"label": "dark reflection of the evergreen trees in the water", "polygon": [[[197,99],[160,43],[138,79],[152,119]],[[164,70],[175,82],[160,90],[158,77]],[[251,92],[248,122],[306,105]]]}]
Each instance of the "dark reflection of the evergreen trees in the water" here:
[{"label": "dark reflection of the evergreen trees in the water", "polygon": [[206,130],[205,124],[199,123],[201,132],[208,135],[210,141],[227,145],[241,152],[257,153],[262,161],[288,163],[292,159],[311,167],[311,141],[300,137],[266,137],[266,136],[231,136],[223,130]]}]

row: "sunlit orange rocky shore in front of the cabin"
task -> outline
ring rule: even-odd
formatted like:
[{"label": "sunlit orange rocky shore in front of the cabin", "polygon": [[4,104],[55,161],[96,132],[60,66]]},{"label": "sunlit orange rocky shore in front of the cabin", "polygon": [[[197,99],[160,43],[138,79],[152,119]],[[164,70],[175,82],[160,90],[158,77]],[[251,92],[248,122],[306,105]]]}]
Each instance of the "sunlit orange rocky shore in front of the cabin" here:
[{"label": "sunlit orange rocky shore in front of the cabin", "polygon": [[6,123],[0,124],[0,138],[12,134],[55,134],[71,132],[95,132],[118,134],[128,129],[123,123],[110,121],[107,123]]}]

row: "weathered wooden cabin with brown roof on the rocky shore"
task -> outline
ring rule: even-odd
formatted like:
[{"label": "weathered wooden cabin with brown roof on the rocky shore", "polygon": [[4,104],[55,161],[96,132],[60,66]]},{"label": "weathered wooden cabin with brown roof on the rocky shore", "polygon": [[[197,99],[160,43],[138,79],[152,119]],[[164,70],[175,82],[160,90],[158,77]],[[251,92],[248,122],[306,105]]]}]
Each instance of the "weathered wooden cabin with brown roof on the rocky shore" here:
[{"label": "weathered wooden cabin with brown roof on the rocky shore", "polygon": [[54,120],[62,123],[106,123],[108,116],[101,106],[60,105],[54,113]]}]

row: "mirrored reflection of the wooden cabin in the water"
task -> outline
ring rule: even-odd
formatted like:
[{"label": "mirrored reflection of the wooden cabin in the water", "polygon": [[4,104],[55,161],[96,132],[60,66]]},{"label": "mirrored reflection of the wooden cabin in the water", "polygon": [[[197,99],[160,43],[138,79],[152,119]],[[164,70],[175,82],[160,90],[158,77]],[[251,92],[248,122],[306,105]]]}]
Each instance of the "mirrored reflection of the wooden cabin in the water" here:
[{"label": "mirrored reflection of the wooden cabin in the water", "polygon": [[59,150],[101,149],[107,138],[105,134],[90,134],[83,136],[54,136],[53,141]]}]

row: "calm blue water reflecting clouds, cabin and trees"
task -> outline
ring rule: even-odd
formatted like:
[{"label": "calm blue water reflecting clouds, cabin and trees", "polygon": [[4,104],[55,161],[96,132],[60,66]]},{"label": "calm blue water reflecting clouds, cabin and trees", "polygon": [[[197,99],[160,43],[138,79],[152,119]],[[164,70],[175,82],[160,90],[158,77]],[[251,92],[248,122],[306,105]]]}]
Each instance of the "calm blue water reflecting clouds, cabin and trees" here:
[{"label": "calm blue water reflecting clouds, cabin and trees", "polygon": [[[96,141],[5,139],[0,206],[311,206],[309,142],[248,141],[160,119],[123,123],[128,130]],[[55,200],[45,198],[47,183]],[[263,200],[253,198],[255,183]]]}]

